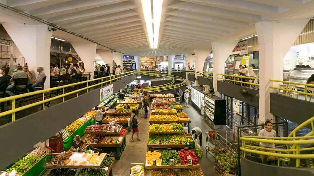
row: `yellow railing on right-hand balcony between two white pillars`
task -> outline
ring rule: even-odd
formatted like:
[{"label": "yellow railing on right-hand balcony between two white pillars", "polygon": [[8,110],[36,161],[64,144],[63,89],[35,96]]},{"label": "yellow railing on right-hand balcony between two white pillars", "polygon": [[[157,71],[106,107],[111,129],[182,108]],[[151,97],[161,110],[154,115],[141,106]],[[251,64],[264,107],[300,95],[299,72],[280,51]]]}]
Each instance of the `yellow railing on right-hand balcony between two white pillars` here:
[{"label": "yellow railing on right-hand balcony between two white pillars", "polygon": [[[228,81],[228,83],[232,83],[234,85],[247,86],[252,89],[257,89],[259,86],[259,78],[256,77],[248,77],[248,76],[238,76],[238,75],[227,75],[217,73],[218,80]],[[256,83],[257,82],[257,83]]]}]

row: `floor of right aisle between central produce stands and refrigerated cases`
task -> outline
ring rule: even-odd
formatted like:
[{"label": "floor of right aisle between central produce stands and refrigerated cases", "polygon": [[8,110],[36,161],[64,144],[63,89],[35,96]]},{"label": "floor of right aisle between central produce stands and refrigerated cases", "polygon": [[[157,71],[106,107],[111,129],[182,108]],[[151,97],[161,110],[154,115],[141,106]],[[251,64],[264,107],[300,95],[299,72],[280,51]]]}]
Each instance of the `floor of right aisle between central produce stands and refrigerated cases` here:
[{"label": "floor of right aisle between central produce stands and refrigerated cases", "polygon": [[192,130],[193,127],[199,127],[203,132],[202,134],[203,156],[202,158],[199,158],[199,163],[201,165],[203,173],[205,176],[218,176],[218,173],[214,169],[215,158],[210,154],[206,154],[205,150],[206,147],[205,132],[208,132],[212,129],[206,124],[206,122],[203,120],[203,116],[198,112],[199,110],[195,109],[191,102],[189,106],[190,106],[189,108],[183,107],[184,108],[183,112],[186,112],[187,115],[191,118],[190,130]]}]

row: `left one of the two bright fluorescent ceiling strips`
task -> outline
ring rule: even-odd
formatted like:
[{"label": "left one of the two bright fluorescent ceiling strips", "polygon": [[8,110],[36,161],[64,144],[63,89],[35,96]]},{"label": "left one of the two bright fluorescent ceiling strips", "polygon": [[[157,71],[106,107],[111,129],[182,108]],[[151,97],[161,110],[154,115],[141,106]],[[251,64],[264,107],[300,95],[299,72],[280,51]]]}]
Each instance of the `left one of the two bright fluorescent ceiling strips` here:
[{"label": "left one of the two bright fluorescent ceiling strips", "polygon": [[153,36],[153,24],[152,24],[152,7],[150,0],[141,0],[144,13],[144,19],[147,28],[147,34],[149,39],[149,45],[151,49],[154,49],[154,36]]}]

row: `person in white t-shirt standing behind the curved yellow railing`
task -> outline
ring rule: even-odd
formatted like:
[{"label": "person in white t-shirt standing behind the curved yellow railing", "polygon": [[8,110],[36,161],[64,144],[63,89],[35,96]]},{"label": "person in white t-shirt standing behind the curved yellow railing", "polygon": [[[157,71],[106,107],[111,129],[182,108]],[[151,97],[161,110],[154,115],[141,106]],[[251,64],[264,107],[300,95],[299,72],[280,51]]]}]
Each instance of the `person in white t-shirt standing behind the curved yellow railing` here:
[{"label": "person in white t-shirt standing behind the curved yellow railing", "polygon": [[[261,136],[261,137],[276,137],[277,134],[276,134],[276,131],[273,130],[273,123],[270,122],[269,120],[266,120],[265,128],[262,129],[261,131],[259,131],[258,136]],[[275,148],[275,144],[274,143],[267,143],[267,142],[260,142],[259,146],[260,147],[264,147],[264,148]],[[261,149],[261,151],[276,153],[275,151],[267,150],[267,149]],[[262,158],[262,163],[264,163],[264,164],[266,164],[268,162],[271,162],[271,161],[276,159],[273,156],[268,156],[266,158],[265,155],[261,155],[261,158]]]}]

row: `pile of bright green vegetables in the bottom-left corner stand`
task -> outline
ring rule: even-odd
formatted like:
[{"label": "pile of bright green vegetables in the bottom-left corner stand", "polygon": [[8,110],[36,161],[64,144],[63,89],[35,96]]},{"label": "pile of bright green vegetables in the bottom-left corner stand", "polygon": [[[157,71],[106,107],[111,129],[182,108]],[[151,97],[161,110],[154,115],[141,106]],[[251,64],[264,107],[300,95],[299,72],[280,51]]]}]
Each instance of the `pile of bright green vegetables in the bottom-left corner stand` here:
[{"label": "pile of bright green vegetables in the bottom-left corner stand", "polygon": [[34,166],[34,159],[37,160],[37,162],[39,160],[41,160],[41,158],[39,158],[36,155],[32,155],[32,154],[28,154],[25,157],[19,159],[17,162],[15,162],[12,166],[4,169],[7,172],[11,172],[12,170],[16,170],[18,174],[23,174],[24,170],[23,168],[26,166],[27,170],[30,169],[32,166]]}]

